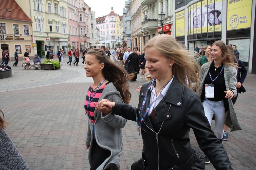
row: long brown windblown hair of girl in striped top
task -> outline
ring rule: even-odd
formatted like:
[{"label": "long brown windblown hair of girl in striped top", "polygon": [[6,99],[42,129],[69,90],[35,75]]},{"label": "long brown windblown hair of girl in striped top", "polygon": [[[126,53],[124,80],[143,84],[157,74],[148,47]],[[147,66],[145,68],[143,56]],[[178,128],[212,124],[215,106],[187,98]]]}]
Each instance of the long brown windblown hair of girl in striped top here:
[{"label": "long brown windblown hair of girl in striped top", "polygon": [[106,55],[102,49],[91,49],[87,52],[87,55],[91,54],[96,57],[99,63],[104,63],[102,74],[106,80],[112,82],[120,92],[124,103],[129,103],[131,100],[131,93],[129,91],[129,81],[134,75],[129,74],[126,70],[114,63],[109,56]]}]

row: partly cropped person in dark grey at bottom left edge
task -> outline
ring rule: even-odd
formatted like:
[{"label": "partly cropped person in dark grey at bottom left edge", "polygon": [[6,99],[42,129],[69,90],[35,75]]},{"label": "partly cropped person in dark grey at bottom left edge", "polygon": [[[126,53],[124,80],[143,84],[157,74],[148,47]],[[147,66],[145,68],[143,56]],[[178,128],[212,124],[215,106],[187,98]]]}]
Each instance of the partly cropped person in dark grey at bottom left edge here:
[{"label": "partly cropped person in dark grey at bottom left edge", "polygon": [[[0,110],[0,113],[3,112]],[[23,157],[20,155],[12,140],[5,133],[6,122],[0,115],[0,169],[22,169],[29,170],[29,167]]]}]

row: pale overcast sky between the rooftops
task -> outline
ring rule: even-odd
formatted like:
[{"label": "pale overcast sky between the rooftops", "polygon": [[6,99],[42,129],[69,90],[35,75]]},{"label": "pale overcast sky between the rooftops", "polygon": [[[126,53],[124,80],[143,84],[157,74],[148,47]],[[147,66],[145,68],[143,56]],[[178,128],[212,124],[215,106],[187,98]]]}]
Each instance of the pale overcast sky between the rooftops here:
[{"label": "pale overcast sky between the rooftops", "polygon": [[96,18],[108,15],[112,6],[116,14],[123,15],[125,7],[125,0],[84,0],[84,2],[95,11]]}]

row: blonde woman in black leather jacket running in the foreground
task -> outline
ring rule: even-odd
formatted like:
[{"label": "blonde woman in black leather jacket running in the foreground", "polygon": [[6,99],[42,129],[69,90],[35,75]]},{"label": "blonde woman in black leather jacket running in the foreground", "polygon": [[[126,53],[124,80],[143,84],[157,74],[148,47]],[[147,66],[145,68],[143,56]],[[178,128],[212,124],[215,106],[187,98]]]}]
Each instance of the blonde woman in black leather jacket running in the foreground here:
[{"label": "blonde woman in black leather jacket running in the foreground", "polygon": [[200,71],[195,52],[185,51],[168,34],[153,37],[144,48],[145,67],[153,79],[142,85],[138,108],[107,99],[95,105],[105,115],[120,115],[137,122],[144,147],[142,158],[131,169],[204,169],[201,153],[191,147],[190,128],[214,168],[232,169],[204,115],[198,86],[197,93],[192,90],[192,83],[198,84],[196,73]]}]

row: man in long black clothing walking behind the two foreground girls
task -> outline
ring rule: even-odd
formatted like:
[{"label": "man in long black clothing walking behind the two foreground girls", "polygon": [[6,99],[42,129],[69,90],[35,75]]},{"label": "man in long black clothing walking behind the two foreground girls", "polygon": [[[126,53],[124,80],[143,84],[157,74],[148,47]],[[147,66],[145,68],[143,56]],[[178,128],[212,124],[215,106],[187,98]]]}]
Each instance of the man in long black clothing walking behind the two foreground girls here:
[{"label": "man in long black clothing walking behind the two foreground girls", "polygon": [[128,64],[129,74],[135,73],[134,74],[135,76],[132,78],[132,81],[136,81],[138,65],[139,65],[139,57],[138,57],[138,54],[137,54],[137,48],[136,47],[133,48],[132,53],[129,55],[129,57],[125,61],[125,64],[123,65],[123,67],[125,67],[127,64]]}]

